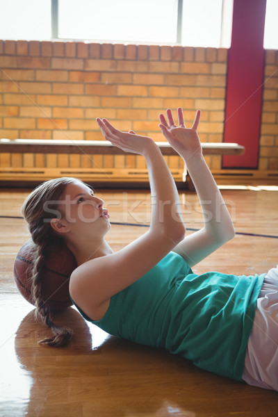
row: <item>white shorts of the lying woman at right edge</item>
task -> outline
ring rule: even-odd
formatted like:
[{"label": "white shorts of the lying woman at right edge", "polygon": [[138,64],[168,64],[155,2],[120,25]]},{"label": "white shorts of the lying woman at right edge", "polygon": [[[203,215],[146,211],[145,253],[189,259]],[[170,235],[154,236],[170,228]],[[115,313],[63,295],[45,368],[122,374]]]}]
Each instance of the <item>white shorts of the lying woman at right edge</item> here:
[{"label": "white shorts of the lying woman at right edge", "polygon": [[278,391],[278,265],[265,275],[256,303],[243,380]]}]

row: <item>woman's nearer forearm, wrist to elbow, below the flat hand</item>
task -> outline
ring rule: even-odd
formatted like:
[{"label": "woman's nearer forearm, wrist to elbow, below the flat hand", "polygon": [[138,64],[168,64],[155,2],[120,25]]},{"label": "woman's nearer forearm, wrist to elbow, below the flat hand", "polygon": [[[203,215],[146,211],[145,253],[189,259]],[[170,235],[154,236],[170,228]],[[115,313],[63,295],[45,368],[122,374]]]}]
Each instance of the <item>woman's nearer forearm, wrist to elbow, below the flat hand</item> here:
[{"label": "woman's nearer forearm, wrist to elbow, below the flat hand", "polygon": [[153,142],[144,156],[152,193],[151,229],[182,237],[185,227],[181,218],[179,194],[161,150]]}]

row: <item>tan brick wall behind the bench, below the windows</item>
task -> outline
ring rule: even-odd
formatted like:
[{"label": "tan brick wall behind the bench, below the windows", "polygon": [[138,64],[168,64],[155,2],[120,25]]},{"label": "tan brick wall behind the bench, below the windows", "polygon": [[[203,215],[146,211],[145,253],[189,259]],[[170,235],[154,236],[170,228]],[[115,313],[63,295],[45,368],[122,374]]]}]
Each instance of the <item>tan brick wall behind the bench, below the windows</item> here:
[{"label": "tan brick wall behind the bench, below the windows", "polygon": [[[0,137],[101,140],[95,117],[163,140],[158,114],[182,106],[200,139],[222,142],[227,50],[0,40]],[[277,69],[267,51],[265,80]],[[260,170],[278,170],[277,72],[265,81]],[[221,157],[206,157],[221,170]],[[180,169],[178,157],[167,157]],[[145,169],[140,156],[2,154],[1,167]]]}]

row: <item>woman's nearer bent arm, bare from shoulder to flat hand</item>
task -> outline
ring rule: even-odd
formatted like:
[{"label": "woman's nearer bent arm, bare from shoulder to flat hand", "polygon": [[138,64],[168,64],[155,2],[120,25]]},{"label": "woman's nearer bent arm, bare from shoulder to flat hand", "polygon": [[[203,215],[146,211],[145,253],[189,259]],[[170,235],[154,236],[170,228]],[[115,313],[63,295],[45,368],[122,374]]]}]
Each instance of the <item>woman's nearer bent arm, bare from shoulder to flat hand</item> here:
[{"label": "woman's nearer bent arm, bare from shoulder to flat hand", "polygon": [[[179,243],[185,234],[179,195],[160,149],[147,137],[115,129],[107,120],[97,119],[106,140],[126,152],[145,156],[152,193],[149,230],[119,252],[83,263],[70,279],[74,302],[96,320],[108,300],[140,279]],[[174,213],[174,215],[173,215]]]}]

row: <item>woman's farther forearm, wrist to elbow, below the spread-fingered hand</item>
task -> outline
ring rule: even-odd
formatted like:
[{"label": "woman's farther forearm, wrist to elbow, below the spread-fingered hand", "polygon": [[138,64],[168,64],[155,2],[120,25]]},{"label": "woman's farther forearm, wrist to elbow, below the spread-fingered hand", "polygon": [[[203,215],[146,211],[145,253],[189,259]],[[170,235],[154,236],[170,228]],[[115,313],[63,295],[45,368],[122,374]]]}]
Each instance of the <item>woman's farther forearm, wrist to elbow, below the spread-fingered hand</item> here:
[{"label": "woman's farther forearm, wrist to elbow, below the spread-fingered hand", "polygon": [[229,240],[235,234],[234,225],[204,157],[192,155],[186,158],[186,166],[202,207],[204,229]]}]

